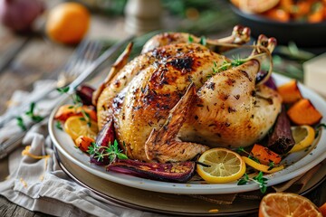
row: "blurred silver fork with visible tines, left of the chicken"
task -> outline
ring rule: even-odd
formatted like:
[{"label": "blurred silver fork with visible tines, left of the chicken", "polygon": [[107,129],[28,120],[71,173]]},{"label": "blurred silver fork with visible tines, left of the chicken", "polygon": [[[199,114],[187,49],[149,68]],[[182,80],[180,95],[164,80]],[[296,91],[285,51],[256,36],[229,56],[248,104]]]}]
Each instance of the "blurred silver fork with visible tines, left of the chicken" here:
[{"label": "blurred silver fork with visible tines, left of the chicken", "polygon": [[37,94],[36,97],[24,102],[20,107],[10,109],[2,117],[0,117],[0,127],[4,127],[5,123],[16,116],[22,115],[24,111],[28,110],[32,102],[38,102],[44,99],[50,92],[55,89],[69,85],[72,80],[75,80],[84,69],[91,65],[97,59],[102,50],[102,44],[98,41],[84,40],[73,52],[72,57],[66,62],[59,72],[56,84],[53,87]]}]

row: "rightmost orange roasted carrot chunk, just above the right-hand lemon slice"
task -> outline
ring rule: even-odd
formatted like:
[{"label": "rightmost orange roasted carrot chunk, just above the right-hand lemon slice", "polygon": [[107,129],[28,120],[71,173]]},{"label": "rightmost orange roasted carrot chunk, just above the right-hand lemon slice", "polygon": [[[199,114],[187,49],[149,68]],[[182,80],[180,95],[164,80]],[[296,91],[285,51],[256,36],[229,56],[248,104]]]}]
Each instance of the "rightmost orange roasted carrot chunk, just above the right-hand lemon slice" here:
[{"label": "rightmost orange roasted carrot chunk, just above the right-hand lemon slice", "polygon": [[300,99],[294,103],[287,111],[287,115],[297,125],[314,125],[322,118],[321,112],[309,99]]}]

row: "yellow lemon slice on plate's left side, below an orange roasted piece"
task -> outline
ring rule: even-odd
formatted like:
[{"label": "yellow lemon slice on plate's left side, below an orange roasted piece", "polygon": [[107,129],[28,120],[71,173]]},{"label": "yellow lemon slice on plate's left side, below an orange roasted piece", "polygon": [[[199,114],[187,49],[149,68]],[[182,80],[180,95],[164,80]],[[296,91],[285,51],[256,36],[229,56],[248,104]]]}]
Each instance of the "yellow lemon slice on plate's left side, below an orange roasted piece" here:
[{"label": "yellow lemon slice on plate's left side, below an orange roasted piece", "polygon": [[87,124],[83,118],[78,116],[72,116],[64,122],[64,130],[69,134],[73,140],[80,136],[86,136],[96,138],[99,130],[97,123],[90,120],[91,126]]}]

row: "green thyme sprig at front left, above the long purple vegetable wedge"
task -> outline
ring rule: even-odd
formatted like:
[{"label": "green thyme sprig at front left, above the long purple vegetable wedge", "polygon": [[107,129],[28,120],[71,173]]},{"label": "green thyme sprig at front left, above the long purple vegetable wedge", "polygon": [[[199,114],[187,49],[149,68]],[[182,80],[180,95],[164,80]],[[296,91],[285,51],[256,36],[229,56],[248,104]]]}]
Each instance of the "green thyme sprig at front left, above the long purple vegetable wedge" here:
[{"label": "green thyme sprig at front left, above the long purple vegetable wedge", "polygon": [[122,150],[119,148],[117,140],[114,140],[113,144],[109,146],[97,146],[96,143],[91,143],[87,151],[94,159],[101,162],[104,158],[108,157],[110,164],[114,162],[117,158],[119,159],[128,159],[128,156],[122,153]]}]

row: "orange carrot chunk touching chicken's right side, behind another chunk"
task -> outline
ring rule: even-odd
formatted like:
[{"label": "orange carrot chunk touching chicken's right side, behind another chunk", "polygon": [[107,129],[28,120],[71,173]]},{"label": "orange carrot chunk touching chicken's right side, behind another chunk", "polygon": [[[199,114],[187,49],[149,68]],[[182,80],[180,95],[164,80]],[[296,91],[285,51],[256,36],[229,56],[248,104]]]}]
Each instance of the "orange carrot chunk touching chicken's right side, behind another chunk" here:
[{"label": "orange carrot chunk touching chicken's right side, behind another chunk", "polygon": [[297,80],[290,80],[289,82],[279,86],[277,91],[283,99],[283,103],[293,103],[302,99],[302,93],[298,87]]}]

